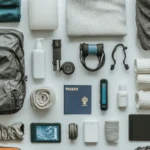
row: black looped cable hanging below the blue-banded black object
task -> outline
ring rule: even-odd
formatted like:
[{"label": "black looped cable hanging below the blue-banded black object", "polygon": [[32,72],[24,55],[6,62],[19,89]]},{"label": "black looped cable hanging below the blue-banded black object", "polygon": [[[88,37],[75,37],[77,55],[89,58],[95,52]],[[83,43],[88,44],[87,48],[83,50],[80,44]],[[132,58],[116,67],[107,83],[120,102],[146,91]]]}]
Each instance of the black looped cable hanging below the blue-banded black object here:
[{"label": "black looped cable hanging below the blue-banded black object", "polygon": [[101,55],[97,56],[97,58],[98,58],[98,61],[99,61],[97,67],[94,68],[94,69],[89,68],[86,65],[86,57],[82,55],[82,50],[80,50],[80,60],[81,60],[81,63],[84,66],[84,68],[87,69],[88,71],[95,72],[95,71],[101,69],[104,66],[106,58],[105,58],[105,53],[104,53],[103,50],[101,51]]}]

